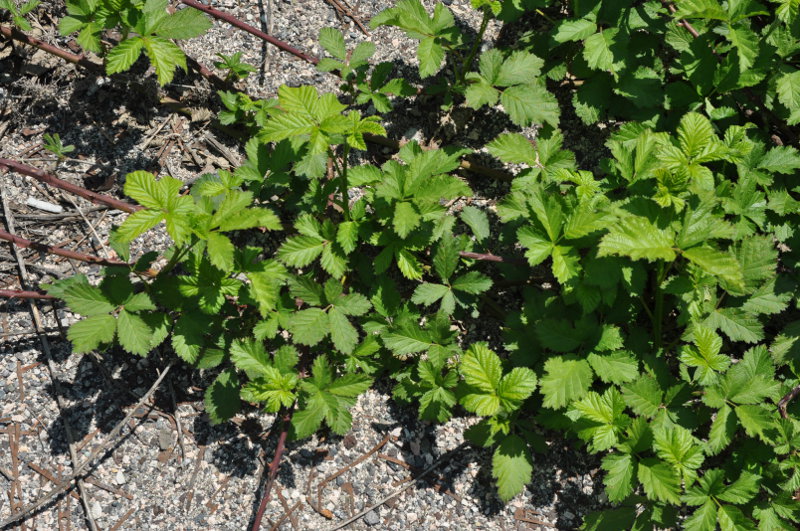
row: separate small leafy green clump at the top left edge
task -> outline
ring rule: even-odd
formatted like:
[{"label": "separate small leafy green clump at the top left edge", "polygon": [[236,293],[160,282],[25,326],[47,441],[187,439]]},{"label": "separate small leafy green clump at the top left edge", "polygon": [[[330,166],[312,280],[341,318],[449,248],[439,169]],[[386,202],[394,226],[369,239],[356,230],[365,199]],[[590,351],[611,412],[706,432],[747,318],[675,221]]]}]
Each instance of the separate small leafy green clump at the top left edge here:
[{"label": "separate small leafy green clump at the top left edge", "polygon": [[[62,35],[78,32],[78,44],[106,56],[106,72],[128,70],[144,51],[162,85],[172,81],[175,69],[186,71],[186,56],[171,39],[188,39],[204,33],[211,21],[200,11],[182,9],[167,13],[167,0],[67,0],[68,16],[61,19]],[[107,49],[103,30],[119,28],[120,42]]]}]

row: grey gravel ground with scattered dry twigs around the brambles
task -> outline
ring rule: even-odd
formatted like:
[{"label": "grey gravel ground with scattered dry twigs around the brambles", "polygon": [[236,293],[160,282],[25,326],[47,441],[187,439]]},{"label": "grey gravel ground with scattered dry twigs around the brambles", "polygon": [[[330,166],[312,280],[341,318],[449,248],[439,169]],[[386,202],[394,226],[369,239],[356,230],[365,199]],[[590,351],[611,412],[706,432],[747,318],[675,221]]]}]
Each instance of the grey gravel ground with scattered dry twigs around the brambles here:
[{"label": "grey gravel ground with scattered dry twigs around the brambles", "polygon": [[[350,19],[340,20],[325,0],[211,4],[313,54],[321,51],[316,37],[325,26],[342,29],[349,44],[366,38]],[[366,23],[392,4],[359,2],[359,18]],[[58,37],[52,24],[63,14],[59,5],[54,2],[40,13],[34,34],[66,46],[68,39]],[[450,7],[459,24],[477,27],[479,21],[467,0],[454,0]],[[498,29],[490,27],[487,42]],[[369,38],[378,47],[377,60],[394,61],[398,73],[410,75],[408,63],[415,59],[402,33],[381,28]],[[112,81],[86,75],[41,52],[3,48],[0,42],[0,157],[57,171],[61,178],[117,195],[122,177],[135,169],[188,180],[231,168],[241,160],[235,143],[208,128],[208,113],[202,109],[213,112],[218,107],[212,91],[196,77],[179,75],[166,89],[198,109],[191,120],[158,105],[159,89],[151,76],[144,75],[142,64]],[[273,95],[284,83],[336,89],[335,78],[218,22],[202,38],[184,43],[184,48],[207,65],[217,52],[243,50],[244,59],[261,69],[247,82],[252,95]],[[409,106],[390,115],[387,126],[395,138],[425,139],[435,131],[466,145],[478,145],[486,140],[481,135],[492,138],[509,127],[496,113],[487,112],[480,117],[485,127],[475,136],[472,129],[459,127],[468,116],[455,113],[451,118],[452,125],[440,128],[435,113]],[[42,150],[43,133],[59,133],[65,144],[75,145],[70,154],[74,158],[56,166]],[[523,133],[535,135],[534,130]],[[596,134],[579,138],[585,146],[602,142]],[[580,151],[581,145],[572,147]],[[79,198],[73,204],[68,196],[14,173],[0,175],[0,183],[8,204],[3,228],[10,215],[16,233],[29,239],[103,255],[109,252],[103,242],[112,223],[124,219]],[[497,197],[506,185],[473,186],[479,196]],[[69,217],[52,219],[25,206],[28,198],[60,204]],[[474,204],[490,207],[491,201],[479,197]],[[166,244],[165,234],[154,232],[146,242],[137,242],[134,252],[145,245],[149,249]],[[31,287],[75,272],[95,279],[98,272],[94,266],[27,250],[23,256]],[[2,245],[0,289],[19,287],[12,250]],[[60,327],[74,316],[48,304],[40,307],[50,356],[33,333],[27,302],[0,302],[0,521],[50,490],[59,474],[70,473],[67,429],[76,455],[89,455],[109,438],[165,366],[158,353],[148,359],[132,359],[122,352],[71,355]],[[496,324],[484,320],[469,323],[467,329],[476,338],[491,338],[497,335]],[[264,463],[274,450],[275,437],[269,437],[274,419],[253,410],[235,422],[211,426],[201,399],[207,383],[203,375],[173,368],[121,435],[112,439],[109,451],[95,461],[83,490],[85,506],[98,528],[243,529],[252,522]],[[413,410],[398,408],[388,390],[382,382],[359,399],[347,436],[315,436],[289,445],[264,528],[336,529],[366,510],[347,529],[573,529],[583,515],[603,504],[597,461],[558,438],[548,439],[547,452],[536,456],[535,475],[525,492],[500,503],[491,487],[491,455],[461,445],[461,434],[471,420],[456,417],[444,425],[420,422]],[[437,468],[424,478],[414,479],[434,464]],[[88,528],[77,490],[69,492],[27,519],[24,529]],[[394,492],[399,494],[384,503]]]}]

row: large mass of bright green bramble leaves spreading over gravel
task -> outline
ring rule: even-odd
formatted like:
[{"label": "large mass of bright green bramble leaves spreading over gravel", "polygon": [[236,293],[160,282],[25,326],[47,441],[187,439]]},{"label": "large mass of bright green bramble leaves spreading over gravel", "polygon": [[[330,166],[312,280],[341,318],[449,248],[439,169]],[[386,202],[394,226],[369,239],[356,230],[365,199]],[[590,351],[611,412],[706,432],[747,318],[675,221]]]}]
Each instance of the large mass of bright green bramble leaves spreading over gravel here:
[{"label": "large mass of bright green bramble leaves spreading over gravel", "polygon": [[[167,16],[166,1],[68,4],[62,31],[88,49],[126,29],[109,72],[144,49],[162,83],[183,64],[164,59],[168,39],[207,27]],[[611,507],[586,529],[795,529],[800,423],[781,397],[800,384],[797,2],[472,6],[474,38],[443,4],[400,0],[373,19],[418,41],[422,87],[324,29],[319,67],[340,73],[340,97],[221,93],[220,121],[249,134],[246,162],[188,194],[172,177],[127,176],[143,208],[114,230],[118,254],[130,261],[130,242],[162,225],[174,244],[106,268],[98,286],[48,287],[84,316],[74,351],[168,345],[215,375],[214,422],[259,404],[291,414],[296,439],[345,433],[357,396],[388,378],[423,419],[480,418],[465,435],[493,452],[503,500],[530,481],[543,432],[560,431],[602,459]],[[481,52],[494,18],[535,29]],[[468,149],[409,142],[354,163],[385,135],[367,109],[418,91],[540,126],[535,142],[506,132],[486,145],[519,168],[492,212],[452,206],[473,195],[456,172]],[[558,129],[559,101],[587,124],[618,121],[598,168],[564,149],[580,133]],[[477,260],[500,249],[520,256]],[[455,326],[490,309],[504,320],[491,343]]]}]

